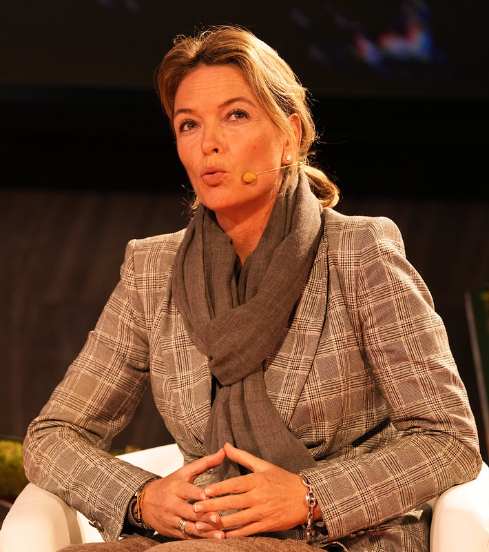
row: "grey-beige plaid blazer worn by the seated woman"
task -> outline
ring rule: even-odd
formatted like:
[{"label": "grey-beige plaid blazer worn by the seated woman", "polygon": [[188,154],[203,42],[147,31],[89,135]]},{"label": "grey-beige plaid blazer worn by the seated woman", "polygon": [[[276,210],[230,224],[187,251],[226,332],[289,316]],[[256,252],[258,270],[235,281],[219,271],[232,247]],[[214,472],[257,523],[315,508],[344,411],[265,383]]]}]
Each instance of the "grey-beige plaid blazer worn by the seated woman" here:
[{"label": "grey-beige plaid blazer worn by the seated woman", "polygon": [[[329,533],[318,546],[427,550],[429,511],[419,505],[481,466],[466,391],[395,224],[331,209],[324,219],[302,296],[264,362],[267,391],[318,460],[305,470]],[[152,475],[104,452],[149,380],[185,460],[204,454],[211,374],[171,299],[182,237],[129,242],[121,281],[26,437],[30,480],[105,540],[121,534],[130,498]]]}]

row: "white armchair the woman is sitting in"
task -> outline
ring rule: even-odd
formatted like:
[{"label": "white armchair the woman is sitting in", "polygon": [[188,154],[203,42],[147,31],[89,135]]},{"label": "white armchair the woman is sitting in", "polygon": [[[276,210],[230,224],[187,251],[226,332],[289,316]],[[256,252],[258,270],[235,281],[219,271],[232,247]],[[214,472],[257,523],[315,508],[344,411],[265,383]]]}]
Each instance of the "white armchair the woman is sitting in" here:
[{"label": "white armchair the woman is sitting in", "polygon": [[[121,455],[143,469],[166,475],[183,464],[176,444]],[[489,552],[489,467],[476,480],[431,501],[430,552]],[[56,495],[28,484],[0,531],[0,552],[56,552],[68,544],[101,542],[81,513]]]}]

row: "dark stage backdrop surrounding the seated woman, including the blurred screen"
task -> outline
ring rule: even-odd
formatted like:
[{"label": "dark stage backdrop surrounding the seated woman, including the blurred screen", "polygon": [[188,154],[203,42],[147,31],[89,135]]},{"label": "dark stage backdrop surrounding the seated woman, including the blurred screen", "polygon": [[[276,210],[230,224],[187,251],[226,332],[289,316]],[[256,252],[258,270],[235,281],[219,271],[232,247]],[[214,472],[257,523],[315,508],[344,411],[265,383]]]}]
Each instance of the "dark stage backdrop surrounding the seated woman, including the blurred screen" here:
[{"label": "dark stage backdrop surrounding the seated woman, including the blurred screen", "polygon": [[[486,3],[229,4],[2,2],[0,433],[23,437],[63,377],[126,242],[185,225],[187,178],[154,70],[175,34],[231,22],[276,48],[311,90],[337,209],[402,230],[487,459],[464,310],[465,291],[489,280]],[[169,440],[147,395],[114,446]]]}]

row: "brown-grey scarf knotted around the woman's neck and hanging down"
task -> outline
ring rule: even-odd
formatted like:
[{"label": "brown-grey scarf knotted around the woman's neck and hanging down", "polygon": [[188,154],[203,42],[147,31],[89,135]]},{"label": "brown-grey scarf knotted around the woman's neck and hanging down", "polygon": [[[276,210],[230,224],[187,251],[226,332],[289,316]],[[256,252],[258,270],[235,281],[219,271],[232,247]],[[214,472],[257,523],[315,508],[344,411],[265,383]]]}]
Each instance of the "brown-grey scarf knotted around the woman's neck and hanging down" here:
[{"label": "brown-grey scarf knotted around the woman's neck and hanging down", "polygon": [[[229,442],[287,471],[315,464],[267,395],[263,364],[283,338],[311,270],[322,234],[320,211],[300,171],[276,199],[239,275],[236,251],[211,210],[200,205],[187,227],[175,259],[172,294],[215,378],[207,454]],[[239,473],[230,460],[214,470],[218,480]]]}]

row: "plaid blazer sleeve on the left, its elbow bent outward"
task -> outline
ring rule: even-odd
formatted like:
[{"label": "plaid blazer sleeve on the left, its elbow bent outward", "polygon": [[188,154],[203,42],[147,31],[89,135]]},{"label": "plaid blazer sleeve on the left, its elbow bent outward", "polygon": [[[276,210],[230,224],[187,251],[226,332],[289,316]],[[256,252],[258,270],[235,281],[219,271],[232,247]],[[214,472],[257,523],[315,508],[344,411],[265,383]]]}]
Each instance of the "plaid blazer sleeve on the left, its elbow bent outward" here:
[{"label": "plaid blazer sleeve on the left, its elbow bent outward", "polygon": [[29,426],[25,472],[117,540],[129,500],[153,474],[107,453],[131,419],[149,379],[145,313],[130,242],[121,280],[83,350]]}]

